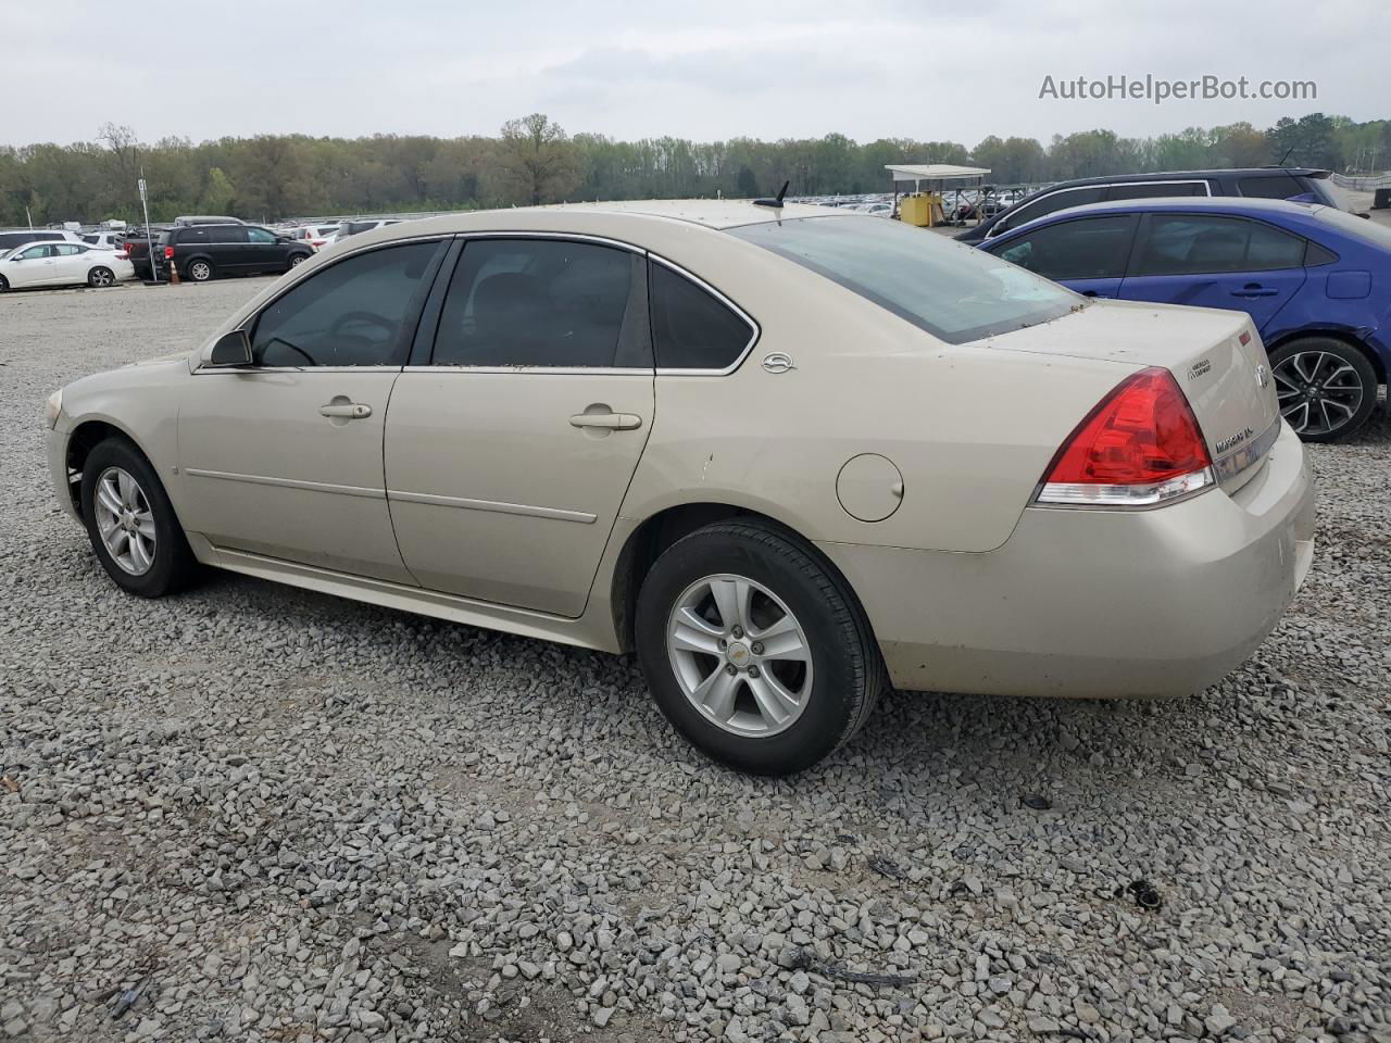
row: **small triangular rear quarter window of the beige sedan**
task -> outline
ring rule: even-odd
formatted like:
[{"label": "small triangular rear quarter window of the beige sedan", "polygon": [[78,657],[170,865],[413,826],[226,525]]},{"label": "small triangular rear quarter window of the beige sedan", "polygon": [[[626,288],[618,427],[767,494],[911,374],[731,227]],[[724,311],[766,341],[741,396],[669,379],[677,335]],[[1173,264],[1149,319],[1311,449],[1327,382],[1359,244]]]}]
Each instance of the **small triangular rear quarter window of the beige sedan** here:
[{"label": "small triangular rear quarter window of the beige sedan", "polygon": [[662,370],[727,370],[754,339],[739,313],[665,264],[648,266],[652,345]]}]

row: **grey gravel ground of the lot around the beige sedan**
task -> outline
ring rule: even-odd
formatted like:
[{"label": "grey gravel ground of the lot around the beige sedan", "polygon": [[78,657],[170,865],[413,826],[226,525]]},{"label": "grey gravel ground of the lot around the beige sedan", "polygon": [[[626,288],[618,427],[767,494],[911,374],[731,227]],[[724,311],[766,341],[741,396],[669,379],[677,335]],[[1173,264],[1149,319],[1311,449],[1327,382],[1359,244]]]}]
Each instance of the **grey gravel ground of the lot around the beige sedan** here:
[{"label": "grey gravel ground of the lot around the beige sedan", "polygon": [[260,285],[0,300],[0,1039],[1391,1040],[1384,413],[1207,694],[897,694],[759,780],[629,659],[117,592],[43,399]]}]

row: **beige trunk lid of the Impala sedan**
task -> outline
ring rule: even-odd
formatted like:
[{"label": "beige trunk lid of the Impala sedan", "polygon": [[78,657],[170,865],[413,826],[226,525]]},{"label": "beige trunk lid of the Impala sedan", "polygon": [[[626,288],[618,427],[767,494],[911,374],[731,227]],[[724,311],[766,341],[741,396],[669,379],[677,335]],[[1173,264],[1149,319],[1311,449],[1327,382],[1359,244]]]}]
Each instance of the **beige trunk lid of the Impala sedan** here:
[{"label": "beige trunk lid of the Impala sedan", "polygon": [[1278,432],[1270,362],[1245,312],[1104,300],[981,343],[1129,367],[1163,366],[1188,398],[1228,492],[1255,474],[1252,464],[1264,458]]}]

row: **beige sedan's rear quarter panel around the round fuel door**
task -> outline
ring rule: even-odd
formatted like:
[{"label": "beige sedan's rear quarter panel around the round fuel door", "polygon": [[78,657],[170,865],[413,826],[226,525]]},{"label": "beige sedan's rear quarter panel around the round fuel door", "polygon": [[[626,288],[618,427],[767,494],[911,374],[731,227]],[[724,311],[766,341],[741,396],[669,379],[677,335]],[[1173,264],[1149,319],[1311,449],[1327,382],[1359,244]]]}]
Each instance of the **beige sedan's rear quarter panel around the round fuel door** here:
[{"label": "beige sedan's rear quarter panel around the round fuel door", "polygon": [[[729,375],[658,373],[629,519],[718,502],[811,540],[990,551],[1008,540],[1072,427],[1136,369],[946,345],[790,261],[727,243],[670,259],[736,300],[761,337]],[[1057,320],[1057,335],[1077,318]],[[796,369],[765,371],[771,352]],[[861,453],[903,474],[901,505],[883,522],[854,519],[836,494],[840,469]]]}]

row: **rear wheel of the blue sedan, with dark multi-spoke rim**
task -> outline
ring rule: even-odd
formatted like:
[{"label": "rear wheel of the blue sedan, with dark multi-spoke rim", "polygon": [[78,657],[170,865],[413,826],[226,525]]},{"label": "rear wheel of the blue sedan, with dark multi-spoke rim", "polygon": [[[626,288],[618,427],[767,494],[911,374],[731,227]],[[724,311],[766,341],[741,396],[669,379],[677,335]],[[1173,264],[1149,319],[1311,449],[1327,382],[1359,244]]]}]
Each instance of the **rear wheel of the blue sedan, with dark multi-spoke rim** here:
[{"label": "rear wheel of the blue sedan, with dark multi-spoke rim", "polygon": [[1280,414],[1306,442],[1335,442],[1362,427],[1377,403],[1367,356],[1333,337],[1302,337],[1270,352]]}]

